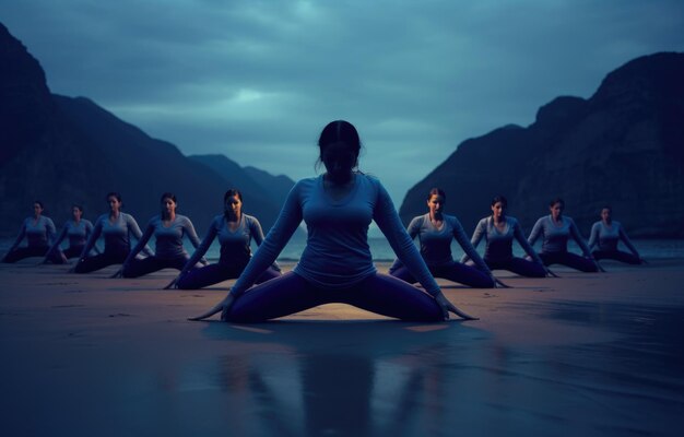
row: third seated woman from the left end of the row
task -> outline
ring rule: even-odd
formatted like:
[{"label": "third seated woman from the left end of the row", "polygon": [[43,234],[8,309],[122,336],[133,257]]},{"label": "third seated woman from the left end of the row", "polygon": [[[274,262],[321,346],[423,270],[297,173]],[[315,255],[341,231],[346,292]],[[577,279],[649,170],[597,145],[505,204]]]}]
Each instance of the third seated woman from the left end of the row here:
[{"label": "third seated woman from the left end of the row", "polygon": [[[81,252],[81,259],[72,269],[75,273],[89,273],[107,265],[123,263],[131,251],[131,234],[138,239],[142,236],[135,218],[121,212],[121,194],[118,192],[108,193],[107,203],[109,203],[109,213],[97,217],[93,233]],[[99,238],[99,234],[105,237],[105,251],[89,257],[91,249]],[[152,256],[152,250],[149,247],[145,246],[143,250],[146,255]]]}]

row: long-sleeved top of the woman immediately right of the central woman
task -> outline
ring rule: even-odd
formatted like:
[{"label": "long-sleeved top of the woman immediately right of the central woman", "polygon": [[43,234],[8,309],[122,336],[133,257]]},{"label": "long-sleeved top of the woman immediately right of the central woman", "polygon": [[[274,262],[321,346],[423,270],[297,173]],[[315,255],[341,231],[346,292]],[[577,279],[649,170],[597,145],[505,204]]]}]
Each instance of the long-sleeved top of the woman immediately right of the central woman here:
[{"label": "long-sleeved top of the woman immediately right of the central woman", "polygon": [[[421,241],[421,255],[427,265],[438,267],[453,262],[451,256],[451,240],[456,240],[461,245],[463,251],[472,258],[475,264],[486,273],[492,273],[487,264],[484,263],[475,248],[470,244],[465,231],[461,222],[453,215],[443,214],[443,224],[440,228],[435,227],[429,220],[429,213],[413,217],[406,232],[411,239],[418,237]],[[390,271],[402,265],[401,260],[396,260]]]}]

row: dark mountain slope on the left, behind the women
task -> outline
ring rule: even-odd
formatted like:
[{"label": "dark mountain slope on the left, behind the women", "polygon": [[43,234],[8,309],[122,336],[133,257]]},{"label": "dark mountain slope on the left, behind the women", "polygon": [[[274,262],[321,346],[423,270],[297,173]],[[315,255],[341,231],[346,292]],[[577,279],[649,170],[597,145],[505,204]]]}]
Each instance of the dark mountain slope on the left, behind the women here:
[{"label": "dark mountain slope on the left, behind the women", "polygon": [[[227,158],[226,158],[227,161]],[[238,166],[239,167],[239,166]],[[95,218],[106,211],[105,194],[119,191],[126,211],[141,226],[158,213],[160,196],[172,191],[178,211],[203,234],[223,209],[223,193],[239,187],[246,212],[264,231],[284,200],[264,196],[247,176],[222,175],[184,156],[87,98],[50,94],[38,61],[0,24],[0,229],[13,234],[42,200],[58,226],[70,205],[81,203]]]}]

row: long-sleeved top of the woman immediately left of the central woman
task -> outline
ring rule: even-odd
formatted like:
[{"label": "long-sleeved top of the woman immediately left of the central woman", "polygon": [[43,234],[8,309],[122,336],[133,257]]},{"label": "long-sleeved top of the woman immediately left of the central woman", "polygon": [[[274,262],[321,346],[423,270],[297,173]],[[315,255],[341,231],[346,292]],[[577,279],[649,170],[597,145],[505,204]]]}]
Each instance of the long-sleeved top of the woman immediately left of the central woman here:
[{"label": "long-sleeved top of the woman immediately left of the central woman", "polygon": [[[186,262],[182,271],[189,270],[192,265],[197,264],[201,257],[207,253],[209,247],[215,237],[219,237],[221,244],[221,258],[220,263],[226,263],[232,265],[246,265],[251,258],[251,239],[253,238],[257,246],[260,246],[263,241],[263,231],[261,231],[261,224],[259,221],[245,213],[240,214],[240,222],[235,228],[231,231],[228,223],[225,220],[225,215],[216,215],[209,225],[209,231],[202,243],[197,247],[192,257]],[[273,262],[273,268],[280,270],[276,262]]]}]

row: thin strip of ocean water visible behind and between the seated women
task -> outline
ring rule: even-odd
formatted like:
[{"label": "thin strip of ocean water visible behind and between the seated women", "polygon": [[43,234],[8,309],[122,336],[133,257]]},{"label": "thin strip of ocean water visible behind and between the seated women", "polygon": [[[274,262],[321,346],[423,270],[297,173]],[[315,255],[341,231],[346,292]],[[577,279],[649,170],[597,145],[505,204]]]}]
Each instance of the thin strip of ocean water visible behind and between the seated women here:
[{"label": "thin strip of ocean water visible behind and between the seated women", "polygon": [[[0,238],[0,253],[4,255],[13,241],[13,238]],[[684,258],[684,239],[633,239],[632,243],[636,246],[641,257],[646,260]],[[390,247],[387,239],[377,237],[369,238],[368,245],[370,246],[370,253],[373,255],[373,259],[375,261],[382,262],[394,260],[394,252],[392,251],[392,248]],[[66,247],[66,244],[63,246]],[[154,241],[150,241],[150,246],[154,248]],[[302,256],[305,246],[306,236],[293,237],[279,256],[279,261],[297,261]],[[98,247],[101,249],[104,248],[102,240],[98,243]],[[192,253],[192,251],[194,250],[194,248],[190,245],[188,240],[185,241],[185,247],[188,253]],[[541,250],[540,243],[536,244],[535,249]],[[621,249],[627,250],[627,248],[622,246],[622,244]],[[210,261],[216,261],[220,255],[219,250],[219,243],[214,241],[207,253],[207,258]],[[252,251],[255,250],[257,250],[257,246],[252,241]],[[574,241],[570,241],[568,244],[568,250],[580,253],[580,249]],[[480,255],[484,252],[484,241],[480,244],[477,251],[480,252]],[[463,256],[463,249],[461,249],[459,244],[456,241],[451,244],[451,252],[456,260],[459,260]],[[520,246],[518,246],[518,244],[514,244],[514,255],[518,257],[524,256],[523,250],[520,248]]]}]

